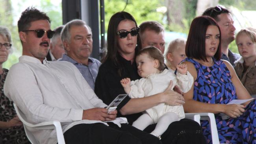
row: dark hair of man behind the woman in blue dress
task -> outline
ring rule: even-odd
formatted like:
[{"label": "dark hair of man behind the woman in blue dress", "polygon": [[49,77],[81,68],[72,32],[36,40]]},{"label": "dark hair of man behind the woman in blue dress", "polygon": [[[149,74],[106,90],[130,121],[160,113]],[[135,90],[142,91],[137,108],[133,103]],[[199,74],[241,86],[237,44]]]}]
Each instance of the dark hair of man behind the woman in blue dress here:
[{"label": "dark hair of man behind the woman in blue dress", "polygon": [[209,16],[214,20],[216,20],[216,22],[218,22],[219,18],[217,16],[222,13],[230,13],[230,11],[228,11],[228,9],[226,9],[225,7],[215,6],[215,7],[210,7],[206,9],[202,15]]}]

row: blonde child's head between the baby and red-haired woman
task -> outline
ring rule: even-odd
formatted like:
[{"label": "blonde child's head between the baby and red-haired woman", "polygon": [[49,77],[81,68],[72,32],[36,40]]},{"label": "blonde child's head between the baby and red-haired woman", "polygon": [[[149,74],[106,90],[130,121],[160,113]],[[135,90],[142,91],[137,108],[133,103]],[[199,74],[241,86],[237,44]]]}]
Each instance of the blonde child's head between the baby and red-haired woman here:
[{"label": "blonde child's head between the baby and red-haired woman", "polygon": [[176,66],[187,56],[185,54],[186,39],[178,38],[170,42],[165,54],[166,65],[169,70],[176,70]]}]

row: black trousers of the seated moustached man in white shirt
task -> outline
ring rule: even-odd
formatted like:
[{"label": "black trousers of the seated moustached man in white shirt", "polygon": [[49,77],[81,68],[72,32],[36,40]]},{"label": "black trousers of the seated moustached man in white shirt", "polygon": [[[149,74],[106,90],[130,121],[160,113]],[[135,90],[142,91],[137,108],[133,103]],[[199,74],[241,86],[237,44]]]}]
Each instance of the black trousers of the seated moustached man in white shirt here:
[{"label": "black trousers of the seated moustached man in white shirt", "polygon": [[149,133],[128,124],[121,127],[108,122],[79,124],[64,133],[66,144],[161,144],[161,141]]}]

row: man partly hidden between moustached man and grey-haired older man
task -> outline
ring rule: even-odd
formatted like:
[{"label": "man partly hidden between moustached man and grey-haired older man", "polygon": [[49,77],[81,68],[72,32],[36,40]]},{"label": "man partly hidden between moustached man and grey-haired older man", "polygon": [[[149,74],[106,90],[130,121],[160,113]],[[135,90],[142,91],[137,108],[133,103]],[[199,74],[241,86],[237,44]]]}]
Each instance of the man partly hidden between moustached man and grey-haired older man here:
[{"label": "man partly hidden between moustached man and grey-haired older man", "polygon": [[56,61],[65,54],[65,50],[60,38],[61,30],[64,26],[59,26],[58,28],[54,29],[55,33],[51,39],[50,43],[50,50],[46,56],[47,61]]}]

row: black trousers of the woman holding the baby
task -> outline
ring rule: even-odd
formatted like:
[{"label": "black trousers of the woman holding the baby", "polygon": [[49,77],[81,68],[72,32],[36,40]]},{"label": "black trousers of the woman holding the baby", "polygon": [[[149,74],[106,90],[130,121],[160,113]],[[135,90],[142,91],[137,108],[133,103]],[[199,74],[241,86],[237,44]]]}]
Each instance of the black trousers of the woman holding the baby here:
[{"label": "black trousers of the woman holding the baby", "polygon": [[[146,127],[144,131],[151,133],[155,127],[156,124],[152,124]],[[197,122],[184,118],[169,125],[161,135],[161,142],[163,144],[206,144],[206,139]]]}]

